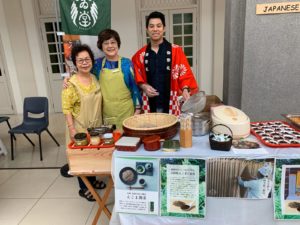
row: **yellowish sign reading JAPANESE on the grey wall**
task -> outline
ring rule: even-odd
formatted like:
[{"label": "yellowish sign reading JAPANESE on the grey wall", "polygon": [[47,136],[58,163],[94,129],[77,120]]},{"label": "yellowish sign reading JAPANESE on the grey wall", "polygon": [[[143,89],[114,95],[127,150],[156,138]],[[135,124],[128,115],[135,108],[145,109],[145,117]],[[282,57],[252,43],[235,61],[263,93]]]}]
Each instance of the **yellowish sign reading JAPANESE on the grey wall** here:
[{"label": "yellowish sign reading JAPANESE on the grey wall", "polygon": [[300,2],[257,4],[256,14],[278,14],[300,12]]}]

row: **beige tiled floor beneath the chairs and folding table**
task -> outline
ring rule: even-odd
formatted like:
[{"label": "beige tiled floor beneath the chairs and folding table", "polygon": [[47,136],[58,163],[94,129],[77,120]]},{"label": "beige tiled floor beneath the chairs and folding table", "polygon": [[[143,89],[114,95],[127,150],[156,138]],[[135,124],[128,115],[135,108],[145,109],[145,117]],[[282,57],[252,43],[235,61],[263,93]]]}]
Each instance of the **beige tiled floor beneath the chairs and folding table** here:
[{"label": "beige tiled floor beneath the chairs and folding table", "polygon": [[[11,116],[12,126],[20,121],[19,116]],[[6,156],[0,156],[1,225],[92,224],[98,205],[78,195],[77,178],[62,177],[57,169],[66,163],[62,114],[51,115],[49,129],[61,146],[57,147],[48,134],[44,133],[44,161],[39,160],[38,147],[33,148],[20,135],[17,136],[15,160],[11,161],[8,128],[5,123],[0,124],[0,138],[8,150]],[[30,137],[38,145],[37,138]],[[36,169],[38,167],[42,168]],[[111,210],[114,192],[111,193],[108,203]],[[98,224],[109,224],[104,214]]]}]

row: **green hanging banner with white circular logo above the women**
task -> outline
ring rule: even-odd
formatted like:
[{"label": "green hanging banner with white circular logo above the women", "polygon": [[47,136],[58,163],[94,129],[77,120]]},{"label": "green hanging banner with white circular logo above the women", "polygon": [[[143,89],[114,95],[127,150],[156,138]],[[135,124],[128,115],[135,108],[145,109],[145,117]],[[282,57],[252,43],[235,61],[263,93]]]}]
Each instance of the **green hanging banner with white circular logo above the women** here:
[{"label": "green hanging banner with white circular logo above the women", "polygon": [[66,34],[98,35],[111,26],[111,0],[60,0],[59,5]]}]

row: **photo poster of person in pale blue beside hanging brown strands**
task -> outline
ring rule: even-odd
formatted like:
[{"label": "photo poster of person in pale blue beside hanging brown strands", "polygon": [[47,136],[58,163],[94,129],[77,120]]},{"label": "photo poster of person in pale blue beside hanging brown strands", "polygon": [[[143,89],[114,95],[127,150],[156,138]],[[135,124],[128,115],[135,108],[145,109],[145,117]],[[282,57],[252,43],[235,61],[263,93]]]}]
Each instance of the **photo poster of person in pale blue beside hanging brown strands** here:
[{"label": "photo poster of person in pale blue beside hanging brown strands", "polygon": [[207,196],[268,199],[273,172],[273,158],[210,158],[207,160]]}]

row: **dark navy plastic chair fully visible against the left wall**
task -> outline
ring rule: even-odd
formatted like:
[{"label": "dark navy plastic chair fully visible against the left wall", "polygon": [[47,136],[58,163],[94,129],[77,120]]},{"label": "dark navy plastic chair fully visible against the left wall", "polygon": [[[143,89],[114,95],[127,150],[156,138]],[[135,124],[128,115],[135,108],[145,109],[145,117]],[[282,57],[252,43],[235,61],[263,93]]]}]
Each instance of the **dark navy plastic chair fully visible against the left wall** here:
[{"label": "dark navy plastic chair fully visible against the left wall", "polygon": [[47,131],[57,146],[60,146],[57,140],[48,130],[49,110],[48,99],[46,97],[27,97],[23,105],[23,122],[9,130],[11,141],[11,160],[14,160],[14,134],[23,134],[25,138],[35,146],[26,134],[37,134],[39,136],[40,160],[43,160],[41,133]]}]

